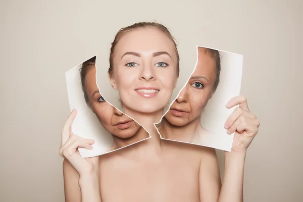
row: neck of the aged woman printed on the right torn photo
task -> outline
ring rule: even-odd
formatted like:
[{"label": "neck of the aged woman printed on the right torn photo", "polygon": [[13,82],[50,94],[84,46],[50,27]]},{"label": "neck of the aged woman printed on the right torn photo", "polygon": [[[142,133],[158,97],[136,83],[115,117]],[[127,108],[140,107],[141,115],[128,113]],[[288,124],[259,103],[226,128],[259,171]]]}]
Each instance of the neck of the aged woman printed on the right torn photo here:
[{"label": "neck of the aged woman printed on the right torn photo", "polygon": [[163,117],[157,128],[162,138],[191,142],[194,136],[202,129],[202,126],[200,124],[200,118],[197,118],[184,126],[174,126]]}]

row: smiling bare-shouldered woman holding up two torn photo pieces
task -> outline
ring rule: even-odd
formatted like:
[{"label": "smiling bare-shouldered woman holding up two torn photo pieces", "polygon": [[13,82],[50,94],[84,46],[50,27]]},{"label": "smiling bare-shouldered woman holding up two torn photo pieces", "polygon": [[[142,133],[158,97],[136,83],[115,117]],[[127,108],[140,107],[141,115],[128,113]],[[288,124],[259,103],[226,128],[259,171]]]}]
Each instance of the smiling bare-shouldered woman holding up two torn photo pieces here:
[{"label": "smiling bare-shouldered woman holding up two torn photo pieces", "polygon": [[[72,112],[63,126],[60,149],[65,158],[66,201],[242,201],[245,154],[258,120],[248,118],[245,97],[227,104],[240,106],[226,122],[226,128],[239,133],[232,152],[225,155],[221,188],[214,149],[161,140],[154,127],[176,85],[178,64],[176,44],[163,25],[136,23],[118,32],[111,49],[110,81],[119,90],[125,114],[151,138],[115,153],[82,159],[77,147],[90,148],[93,140],[72,135],[76,116]],[[237,112],[243,116],[239,118]]]}]

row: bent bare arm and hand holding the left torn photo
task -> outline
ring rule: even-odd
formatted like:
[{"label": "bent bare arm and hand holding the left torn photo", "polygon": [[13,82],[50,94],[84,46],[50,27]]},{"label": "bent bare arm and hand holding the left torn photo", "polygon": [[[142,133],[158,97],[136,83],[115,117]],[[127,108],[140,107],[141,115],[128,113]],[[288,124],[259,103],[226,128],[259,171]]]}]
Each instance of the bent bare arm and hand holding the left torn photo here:
[{"label": "bent bare arm and hand holding the left torn photo", "polygon": [[63,175],[66,201],[100,202],[98,183],[99,157],[82,158],[78,147],[92,149],[94,140],[83,139],[72,134],[71,125],[76,117],[73,110],[62,128],[62,140],[59,150],[64,158]]}]

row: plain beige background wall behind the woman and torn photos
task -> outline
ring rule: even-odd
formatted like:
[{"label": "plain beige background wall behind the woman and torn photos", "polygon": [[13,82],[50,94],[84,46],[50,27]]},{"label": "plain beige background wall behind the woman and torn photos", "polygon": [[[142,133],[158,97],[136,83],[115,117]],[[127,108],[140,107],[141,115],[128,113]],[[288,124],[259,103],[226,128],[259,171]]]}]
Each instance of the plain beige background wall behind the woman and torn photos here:
[{"label": "plain beige background wall behind the woman and torn photos", "polygon": [[182,71],[195,64],[187,53],[195,42],[244,56],[241,94],[261,121],[247,152],[245,201],[303,200],[302,8],[300,0],[1,1],[0,201],[64,201],[64,73],[105,55],[117,28],[154,19],[180,44]]}]

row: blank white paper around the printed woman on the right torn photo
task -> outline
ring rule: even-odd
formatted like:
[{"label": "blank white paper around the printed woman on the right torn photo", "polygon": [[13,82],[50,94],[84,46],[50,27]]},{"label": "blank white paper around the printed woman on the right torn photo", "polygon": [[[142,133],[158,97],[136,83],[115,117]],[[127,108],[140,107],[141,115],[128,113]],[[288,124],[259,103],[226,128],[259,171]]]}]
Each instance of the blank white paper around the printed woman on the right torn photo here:
[{"label": "blank white paper around the printed woman on the right torn photo", "polygon": [[[225,106],[232,97],[238,96],[240,93],[243,56],[221,50],[218,51],[221,55],[220,83],[213,97],[209,100],[205,111],[201,114],[200,122],[201,126],[210,132],[199,134],[199,138],[195,137],[194,140],[190,142],[180,142],[230,151],[234,133],[231,135],[227,134],[224,123],[237,106],[231,109],[227,109]],[[161,138],[166,139],[162,136]],[[169,140],[177,141],[174,139]]]}]

